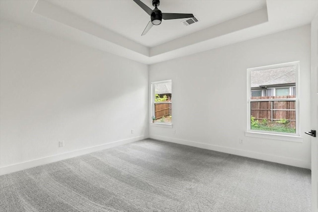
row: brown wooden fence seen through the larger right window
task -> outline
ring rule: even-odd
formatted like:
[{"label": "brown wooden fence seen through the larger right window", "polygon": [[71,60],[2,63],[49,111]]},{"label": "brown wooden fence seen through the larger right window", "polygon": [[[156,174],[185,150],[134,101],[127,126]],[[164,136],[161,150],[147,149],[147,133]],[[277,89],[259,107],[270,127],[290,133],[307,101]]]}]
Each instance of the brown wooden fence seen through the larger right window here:
[{"label": "brown wooden fence seen through the larger right window", "polygon": [[278,121],[286,119],[292,123],[296,121],[296,101],[270,101],[270,99],[289,99],[295,96],[262,96],[251,97],[251,99],[268,99],[250,103],[250,113],[257,120]]}]

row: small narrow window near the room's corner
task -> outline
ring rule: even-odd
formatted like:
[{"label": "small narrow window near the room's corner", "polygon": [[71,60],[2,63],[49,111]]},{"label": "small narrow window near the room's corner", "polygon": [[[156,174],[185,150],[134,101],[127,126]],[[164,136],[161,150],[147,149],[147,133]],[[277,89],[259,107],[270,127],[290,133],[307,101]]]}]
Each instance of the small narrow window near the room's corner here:
[{"label": "small narrow window near the room's corner", "polygon": [[172,124],[172,83],[171,80],[152,82],[152,122]]}]

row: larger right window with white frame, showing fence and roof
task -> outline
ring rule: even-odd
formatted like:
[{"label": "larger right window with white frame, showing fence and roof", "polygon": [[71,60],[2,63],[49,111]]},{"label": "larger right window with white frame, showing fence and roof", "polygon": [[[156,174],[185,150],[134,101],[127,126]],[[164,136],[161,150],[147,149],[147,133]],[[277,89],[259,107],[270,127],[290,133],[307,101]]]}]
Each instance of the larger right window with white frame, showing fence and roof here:
[{"label": "larger right window with white frame, showing fence and roof", "polygon": [[247,69],[247,131],[299,136],[299,62]]}]

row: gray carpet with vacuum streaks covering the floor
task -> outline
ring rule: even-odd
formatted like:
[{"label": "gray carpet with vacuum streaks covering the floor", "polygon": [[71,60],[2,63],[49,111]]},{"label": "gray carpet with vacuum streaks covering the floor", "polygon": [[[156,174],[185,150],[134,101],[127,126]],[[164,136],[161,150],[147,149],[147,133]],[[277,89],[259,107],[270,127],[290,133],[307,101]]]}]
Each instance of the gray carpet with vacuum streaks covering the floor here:
[{"label": "gray carpet with vacuum streaks covering the floor", "polygon": [[0,176],[1,212],[308,212],[311,171],[143,140]]}]

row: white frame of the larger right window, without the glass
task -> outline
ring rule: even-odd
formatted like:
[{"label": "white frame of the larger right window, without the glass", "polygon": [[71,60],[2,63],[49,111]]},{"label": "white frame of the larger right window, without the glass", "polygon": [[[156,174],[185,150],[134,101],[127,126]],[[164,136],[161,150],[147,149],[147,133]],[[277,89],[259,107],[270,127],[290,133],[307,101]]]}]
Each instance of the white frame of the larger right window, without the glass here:
[{"label": "white frame of the larger right window, without the glass", "polygon": [[[281,98],[281,99],[251,99],[251,88],[250,88],[250,73],[251,71],[260,71],[260,70],[268,70],[268,69],[276,69],[276,68],[284,68],[284,67],[291,67],[295,66],[296,67],[296,97],[295,98]],[[256,67],[256,68],[249,68],[247,69],[247,132],[245,133],[245,136],[249,137],[257,137],[257,138],[270,138],[270,139],[275,139],[275,136],[279,136],[279,139],[277,140],[285,140],[283,137],[295,137],[296,139],[290,139],[287,138],[286,141],[302,141],[297,138],[300,137],[300,118],[299,118],[299,102],[300,102],[300,62],[290,62],[290,63],[283,63],[283,64],[275,64],[275,65],[269,65],[269,66],[263,66],[263,67]],[[293,87],[293,86],[290,86]],[[290,88],[291,89],[291,88]],[[276,89],[273,89],[276,90]],[[276,96],[276,91],[275,95]],[[274,131],[261,131],[261,130],[252,130],[251,129],[251,122],[250,122],[250,117],[251,117],[251,102],[259,102],[259,101],[295,101],[295,112],[296,112],[296,118],[295,118],[295,125],[296,125],[296,133],[283,133],[283,132],[274,132]],[[264,137],[262,135],[265,135]],[[269,135],[269,136],[266,136]]]}]

